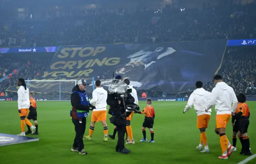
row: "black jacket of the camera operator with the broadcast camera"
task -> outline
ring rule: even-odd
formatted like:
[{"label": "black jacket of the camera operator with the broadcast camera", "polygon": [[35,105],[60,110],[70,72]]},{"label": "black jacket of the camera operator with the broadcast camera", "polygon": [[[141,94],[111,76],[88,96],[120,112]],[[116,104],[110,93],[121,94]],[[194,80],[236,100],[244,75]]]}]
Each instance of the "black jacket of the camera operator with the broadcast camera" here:
[{"label": "black jacket of the camera operator with the broadcast camera", "polygon": [[133,104],[135,102],[131,94],[128,94],[125,102],[118,103],[117,94],[108,94],[107,104],[110,106],[109,114],[120,116],[125,113],[124,103],[126,105]]}]

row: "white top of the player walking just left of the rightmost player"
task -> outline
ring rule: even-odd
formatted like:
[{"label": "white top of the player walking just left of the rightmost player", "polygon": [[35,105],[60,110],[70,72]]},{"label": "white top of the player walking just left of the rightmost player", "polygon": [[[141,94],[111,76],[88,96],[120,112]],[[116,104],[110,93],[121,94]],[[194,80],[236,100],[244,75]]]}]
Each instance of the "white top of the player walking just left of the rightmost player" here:
[{"label": "white top of the player walking just left of the rightmost player", "polygon": [[209,109],[208,112],[205,111],[209,101],[210,101],[211,92],[204,90],[204,88],[197,88],[192,92],[188,98],[188,103],[184,109],[184,112],[188,111],[192,105],[197,115],[211,115],[212,109]]}]

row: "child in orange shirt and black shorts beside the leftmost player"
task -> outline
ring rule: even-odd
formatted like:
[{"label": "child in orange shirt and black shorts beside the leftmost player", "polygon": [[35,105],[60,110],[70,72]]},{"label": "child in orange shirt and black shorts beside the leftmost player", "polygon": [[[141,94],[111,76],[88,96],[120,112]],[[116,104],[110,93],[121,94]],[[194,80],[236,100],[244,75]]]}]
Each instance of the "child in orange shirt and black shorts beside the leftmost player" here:
[{"label": "child in orange shirt and black shorts beside the leftmost player", "polygon": [[32,133],[32,135],[38,135],[38,123],[37,123],[37,111],[36,111],[36,100],[34,99],[34,92],[29,92],[29,101],[30,101],[30,107],[29,107],[29,113],[27,119],[33,119],[36,131],[35,133],[32,133],[30,130],[30,126],[27,125],[28,131],[25,133],[26,135],[29,135]]}]

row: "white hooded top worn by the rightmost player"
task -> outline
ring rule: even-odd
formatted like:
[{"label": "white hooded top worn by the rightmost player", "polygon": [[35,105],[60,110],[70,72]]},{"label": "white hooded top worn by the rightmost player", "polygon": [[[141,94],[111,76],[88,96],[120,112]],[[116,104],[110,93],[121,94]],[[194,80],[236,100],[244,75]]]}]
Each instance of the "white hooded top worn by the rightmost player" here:
[{"label": "white hooded top worn by the rightmost player", "polygon": [[224,82],[218,82],[212,89],[210,102],[206,109],[210,109],[214,104],[216,104],[215,111],[217,112],[217,115],[231,114],[231,112],[236,111],[237,103],[238,101],[233,88]]}]

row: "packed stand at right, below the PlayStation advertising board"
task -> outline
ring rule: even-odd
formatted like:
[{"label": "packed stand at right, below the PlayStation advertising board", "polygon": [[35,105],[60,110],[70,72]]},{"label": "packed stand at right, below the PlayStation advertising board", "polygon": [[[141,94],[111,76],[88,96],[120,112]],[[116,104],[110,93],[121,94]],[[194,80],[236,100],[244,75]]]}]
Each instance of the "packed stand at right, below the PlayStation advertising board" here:
[{"label": "packed stand at right, below the PlayStation advertising board", "polygon": [[[256,95],[256,53],[252,49],[247,47],[229,50],[219,72],[223,81],[230,85],[236,94],[242,92],[248,96]],[[204,88],[212,91],[213,81]]]}]

